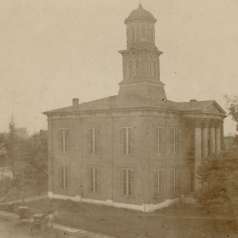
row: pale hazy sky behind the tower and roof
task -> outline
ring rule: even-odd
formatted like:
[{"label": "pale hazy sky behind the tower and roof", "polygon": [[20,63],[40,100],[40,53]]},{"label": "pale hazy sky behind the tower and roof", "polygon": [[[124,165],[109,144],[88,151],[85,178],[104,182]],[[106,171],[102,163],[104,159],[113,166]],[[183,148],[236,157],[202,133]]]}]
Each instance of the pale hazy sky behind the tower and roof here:
[{"label": "pale hazy sky behind the tower and roof", "polygon": [[[29,132],[42,112],[114,95],[122,80],[124,19],[138,0],[2,0],[0,131],[11,114]],[[161,81],[171,100],[216,100],[238,91],[237,0],[141,0],[158,19]],[[234,133],[225,122],[225,133]]]}]

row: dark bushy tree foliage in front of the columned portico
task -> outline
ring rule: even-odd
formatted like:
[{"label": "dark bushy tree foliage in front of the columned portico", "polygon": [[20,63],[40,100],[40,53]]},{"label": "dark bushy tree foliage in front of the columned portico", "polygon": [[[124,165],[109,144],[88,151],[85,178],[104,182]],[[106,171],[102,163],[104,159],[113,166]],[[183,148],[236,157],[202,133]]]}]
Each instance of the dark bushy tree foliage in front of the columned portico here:
[{"label": "dark bushy tree foliage in front of the columned portico", "polygon": [[198,170],[201,188],[198,202],[208,212],[238,212],[238,150],[204,161]]}]

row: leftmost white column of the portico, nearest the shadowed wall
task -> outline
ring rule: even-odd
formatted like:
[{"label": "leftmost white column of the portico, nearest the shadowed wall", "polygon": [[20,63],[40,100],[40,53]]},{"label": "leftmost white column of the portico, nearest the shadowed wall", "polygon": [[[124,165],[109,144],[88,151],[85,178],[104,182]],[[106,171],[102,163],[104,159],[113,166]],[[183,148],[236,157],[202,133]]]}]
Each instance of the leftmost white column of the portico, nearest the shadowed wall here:
[{"label": "leftmost white column of the portico, nearest the shadowed wall", "polygon": [[202,129],[200,127],[195,128],[195,174],[194,174],[194,188],[195,191],[200,187],[199,181],[197,179],[197,170],[201,164],[202,160]]}]

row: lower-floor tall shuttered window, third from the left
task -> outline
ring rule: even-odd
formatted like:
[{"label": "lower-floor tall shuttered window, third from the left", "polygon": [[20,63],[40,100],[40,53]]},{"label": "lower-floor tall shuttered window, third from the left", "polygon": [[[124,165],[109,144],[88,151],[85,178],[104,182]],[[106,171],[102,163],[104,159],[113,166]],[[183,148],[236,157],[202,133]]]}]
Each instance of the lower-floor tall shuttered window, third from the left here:
[{"label": "lower-floor tall shuttered window, third from the left", "polygon": [[133,194],[134,171],[132,169],[122,170],[122,187],[124,196],[131,196]]}]

